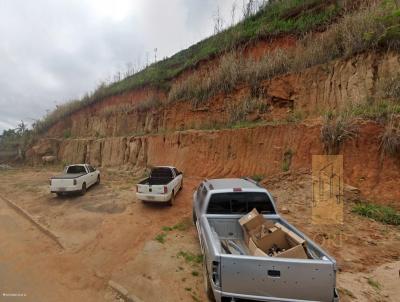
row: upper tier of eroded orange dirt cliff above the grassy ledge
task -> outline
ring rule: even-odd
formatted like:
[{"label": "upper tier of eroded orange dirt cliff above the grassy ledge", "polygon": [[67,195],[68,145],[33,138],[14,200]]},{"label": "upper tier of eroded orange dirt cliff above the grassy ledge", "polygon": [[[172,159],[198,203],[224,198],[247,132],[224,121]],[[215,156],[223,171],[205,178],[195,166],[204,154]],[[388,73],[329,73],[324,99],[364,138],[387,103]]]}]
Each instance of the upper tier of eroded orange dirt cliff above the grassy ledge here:
[{"label": "upper tier of eroded orange dirt cliff above the grassy ledge", "polygon": [[[375,97],[380,82],[399,69],[397,53],[367,53],[266,80],[256,108],[245,118],[275,121],[293,112],[316,117],[327,110],[362,103]],[[164,93],[143,88],[86,107],[59,121],[46,136],[99,138],[224,125],[231,122],[234,107],[248,101],[250,91],[250,86],[242,85],[232,94],[220,93],[195,108],[189,100],[167,103]],[[149,98],[160,100],[160,106],[150,110],[135,107]]]}]

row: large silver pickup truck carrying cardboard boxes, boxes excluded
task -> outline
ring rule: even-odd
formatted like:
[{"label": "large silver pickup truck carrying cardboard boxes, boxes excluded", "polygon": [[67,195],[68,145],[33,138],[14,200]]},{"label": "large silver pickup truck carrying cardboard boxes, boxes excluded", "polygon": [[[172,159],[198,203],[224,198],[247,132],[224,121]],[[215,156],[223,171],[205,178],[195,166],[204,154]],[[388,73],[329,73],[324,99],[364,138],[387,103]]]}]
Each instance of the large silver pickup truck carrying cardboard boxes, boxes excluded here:
[{"label": "large silver pickup truck carrying cardboard boxes, boxes excluded", "polygon": [[[245,248],[241,253],[228,253],[222,242],[244,241],[239,219],[252,209],[301,237],[308,258],[254,256]],[[204,256],[204,281],[210,300],[339,301],[335,260],[280,217],[271,194],[254,181],[203,181],[193,195],[193,220]]]}]

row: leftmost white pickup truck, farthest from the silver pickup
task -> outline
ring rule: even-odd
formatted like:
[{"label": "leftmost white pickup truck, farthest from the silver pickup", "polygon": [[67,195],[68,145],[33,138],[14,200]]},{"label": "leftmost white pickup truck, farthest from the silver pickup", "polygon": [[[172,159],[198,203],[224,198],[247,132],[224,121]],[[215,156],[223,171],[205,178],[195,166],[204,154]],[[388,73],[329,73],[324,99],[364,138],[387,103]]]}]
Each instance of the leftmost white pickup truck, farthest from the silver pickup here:
[{"label": "leftmost white pickup truck, farthest from the silver pickup", "polygon": [[65,193],[79,192],[81,195],[86,190],[100,183],[100,172],[90,165],[70,165],[61,175],[50,178],[50,191],[58,196]]}]

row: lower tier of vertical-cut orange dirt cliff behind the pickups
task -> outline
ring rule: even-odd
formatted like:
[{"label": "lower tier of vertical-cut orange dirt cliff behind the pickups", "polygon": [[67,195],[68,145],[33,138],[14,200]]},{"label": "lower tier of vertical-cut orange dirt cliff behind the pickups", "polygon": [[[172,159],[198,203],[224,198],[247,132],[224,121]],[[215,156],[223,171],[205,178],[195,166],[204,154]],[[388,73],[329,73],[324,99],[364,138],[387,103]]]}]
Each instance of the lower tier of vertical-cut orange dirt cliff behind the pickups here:
[{"label": "lower tier of vertical-cut orange dirt cliff behind the pickups", "polygon": [[[345,182],[360,188],[368,199],[394,204],[400,199],[400,169],[398,162],[381,155],[383,128],[372,122],[360,123],[357,128],[356,138],[346,141],[341,149]],[[312,155],[323,154],[320,131],[316,120],[248,129],[42,139],[31,158],[40,162],[41,156],[55,154],[65,163],[89,162],[137,173],[152,165],[175,165],[188,176],[268,176],[283,170],[310,169]]]}]

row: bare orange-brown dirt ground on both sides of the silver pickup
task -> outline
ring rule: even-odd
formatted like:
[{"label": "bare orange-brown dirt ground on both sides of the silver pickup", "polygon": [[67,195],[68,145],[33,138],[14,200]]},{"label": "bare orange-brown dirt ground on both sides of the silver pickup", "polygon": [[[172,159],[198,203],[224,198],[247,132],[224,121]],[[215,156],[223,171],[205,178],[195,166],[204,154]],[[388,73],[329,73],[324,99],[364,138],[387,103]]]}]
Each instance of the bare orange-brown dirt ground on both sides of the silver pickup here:
[{"label": "bare orange-brown dirt ground on both sides of the silver pickup", "polygon": [[[58,169],[0,172],[0,195],[50,229],[65,249],[0,199],[0,301],[119,301],[107,286],[123,285],[143,301],[205,301],[201,255],[191,225],[191,195],[199,178],[186,178],[173,207],[134,197],[129,172],[102,171],[87,194],[57,198],[48,178]],[[343,301],[395,301],[400,269],[399,228],[351,213],[345,224],[311,225],[307,173],[265,181],[286,218],[333,254]],[[339,240],[340,239],[340,240]],[[338,244],[339,242],[339,244]],[[396,279],[397,278],[397,279]]]}]

